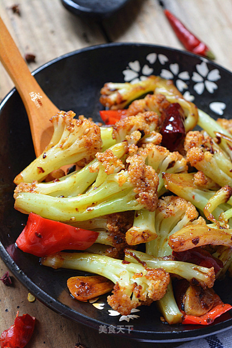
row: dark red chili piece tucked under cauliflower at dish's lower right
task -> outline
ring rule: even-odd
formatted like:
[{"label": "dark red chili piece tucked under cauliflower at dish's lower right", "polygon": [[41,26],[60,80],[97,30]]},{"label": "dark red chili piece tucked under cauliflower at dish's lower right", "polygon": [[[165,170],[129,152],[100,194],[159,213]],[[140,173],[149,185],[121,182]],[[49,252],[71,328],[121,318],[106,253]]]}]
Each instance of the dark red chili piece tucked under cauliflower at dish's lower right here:
[{"label": "dark red chili piece tucked under cauliflower at dish's lower right", "polygon": [[191,262],[207,268],[214,267],[215,274],[223,268],[223,262],[221,260],[215,258],[208,251],[200,247],[180,252],[173,251],[172,255],[178,261]]}]

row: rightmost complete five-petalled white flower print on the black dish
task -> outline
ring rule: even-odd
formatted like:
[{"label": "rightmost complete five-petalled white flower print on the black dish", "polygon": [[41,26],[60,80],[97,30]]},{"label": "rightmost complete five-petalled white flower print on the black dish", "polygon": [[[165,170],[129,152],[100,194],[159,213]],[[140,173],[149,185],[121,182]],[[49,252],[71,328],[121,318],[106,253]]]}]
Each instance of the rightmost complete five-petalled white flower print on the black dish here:
[{"label": "rightmost complete five-petalled white flower print on the black dish", "polygon": [[192,80],[196,82],[193,86],[196,93],[202,94],[204,92],[204,87],[206,87],[209,93],[214,93],[215,89],[218,88],[215,81],[221,79],[219,70],[213,69],[209,71],[206,62],[196,64],[196,70],[197,72],[194,71],[192,76]]}]

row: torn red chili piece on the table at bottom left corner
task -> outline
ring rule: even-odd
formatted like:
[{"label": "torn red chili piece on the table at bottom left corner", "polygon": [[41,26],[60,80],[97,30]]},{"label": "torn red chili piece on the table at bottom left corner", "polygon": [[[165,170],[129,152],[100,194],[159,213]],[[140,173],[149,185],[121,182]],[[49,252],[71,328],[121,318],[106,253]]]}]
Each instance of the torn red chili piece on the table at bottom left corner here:
[{"label": "torn red chili piece on the table at bottom left corner", "polygon": [[18,316],[18,312],[14,324],[9,329],[2,332],[0,337],[1,348],[23,348],[29,342],[34,331],[36,318],[29,314]]}]

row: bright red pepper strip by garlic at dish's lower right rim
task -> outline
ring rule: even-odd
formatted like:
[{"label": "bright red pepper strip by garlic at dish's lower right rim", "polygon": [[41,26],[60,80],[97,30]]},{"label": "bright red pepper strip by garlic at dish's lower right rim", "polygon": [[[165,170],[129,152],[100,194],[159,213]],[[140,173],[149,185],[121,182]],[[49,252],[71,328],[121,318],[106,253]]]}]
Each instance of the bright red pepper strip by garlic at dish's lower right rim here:
[{"label": "bright red pepper strip by garlic at dish's lower right rim", "polygon": [[232,309],[232,306],[228,303],[223,303],[217,294],[215,294],[214,306],[206,314],[196,317],[194,315],[185,314],[182,319],[182,324],[198,324],[198,325],[209,325],[214,320]]}]

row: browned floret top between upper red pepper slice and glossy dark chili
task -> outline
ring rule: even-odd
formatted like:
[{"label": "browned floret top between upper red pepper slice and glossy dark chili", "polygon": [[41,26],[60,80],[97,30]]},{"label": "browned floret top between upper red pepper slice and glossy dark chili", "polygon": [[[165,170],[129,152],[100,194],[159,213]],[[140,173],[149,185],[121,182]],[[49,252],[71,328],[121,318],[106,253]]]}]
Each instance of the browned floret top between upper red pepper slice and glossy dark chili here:
[{"label": "browned floret top between upper red pepper slice and glossy dark chili", "polygon": [[127,116],[137,115],[139,112],[154,111],[161,116],[164,109],[170,105],[163,94],[147,94],[145,98],[134,100],[127,110]]}]

